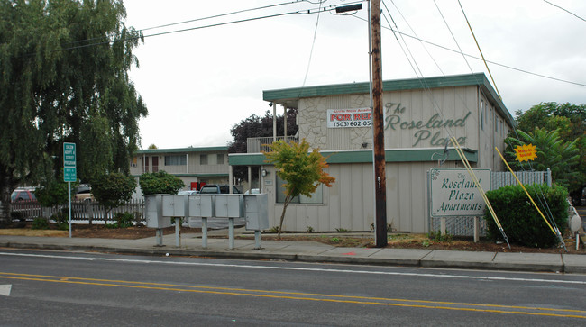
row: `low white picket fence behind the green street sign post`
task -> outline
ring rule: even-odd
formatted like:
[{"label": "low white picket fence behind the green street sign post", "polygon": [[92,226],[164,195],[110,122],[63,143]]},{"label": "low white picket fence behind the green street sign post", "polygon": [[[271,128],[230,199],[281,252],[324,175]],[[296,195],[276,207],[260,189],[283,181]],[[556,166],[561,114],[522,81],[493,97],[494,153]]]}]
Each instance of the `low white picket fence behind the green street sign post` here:
[{"label": "low white picket fence behind the green street sign post", "polygon": [[[11,204],[13,212],[19,212],[24,219],[32,220],[37,217],[50,218],[58,211],[68,211],[67,204],[60,205],[58,208],[41,207],[38,202],[21,201]],[[126,204],[112,209],[107,213],[104,205],[96,201],[71,201],[71,220],[84,221],[88,223],[108,223],[113,222],[116,213],[133,213],[136,223],[144,222],[144,201],[142,199],[133,199]]]}]

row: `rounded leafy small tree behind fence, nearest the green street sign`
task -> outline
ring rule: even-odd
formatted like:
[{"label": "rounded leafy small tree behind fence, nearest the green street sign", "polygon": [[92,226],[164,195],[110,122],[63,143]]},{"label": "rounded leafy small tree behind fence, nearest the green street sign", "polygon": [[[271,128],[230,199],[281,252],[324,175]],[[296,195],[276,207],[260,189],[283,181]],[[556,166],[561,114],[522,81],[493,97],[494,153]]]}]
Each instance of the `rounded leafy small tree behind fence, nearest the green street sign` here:
[{"label": "rounded leafy small tree behind fence, nearest the green street sign", "polygon": [[92,194],[97,202],[105,206],[107,217],[112,209],[127,203],[133,197],[135,188],[134,177],[122,173],[110,173],[92,183]]}]

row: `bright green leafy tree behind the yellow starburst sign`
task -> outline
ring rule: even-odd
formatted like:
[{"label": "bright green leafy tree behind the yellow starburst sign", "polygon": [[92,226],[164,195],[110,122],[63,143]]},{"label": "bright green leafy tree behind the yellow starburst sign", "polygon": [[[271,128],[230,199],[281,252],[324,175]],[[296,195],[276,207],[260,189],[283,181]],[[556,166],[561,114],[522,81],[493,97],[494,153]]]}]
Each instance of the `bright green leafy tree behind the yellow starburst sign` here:
[{"label": "bright green leafy tree behind the yellow starburst sign", "polygon": [[575,142],[563,141],[560,139],[557,130],[545,131],[545,129],[536,128],[534,132],[526,133],[517,131],[519,138],[508,137],[508,144],[505,152],[508,158],[515,158],[515,150],[518,145],[533,144],[536,146],[537,158],[532,162],[518,162],[511,160],[509,165],[517,170],[546,170],[550,168],[552,178],[559,186],[569,187],[575,185],[580,179],[580,173],[577,171],[580,163],[580,152],[575,146]]}]

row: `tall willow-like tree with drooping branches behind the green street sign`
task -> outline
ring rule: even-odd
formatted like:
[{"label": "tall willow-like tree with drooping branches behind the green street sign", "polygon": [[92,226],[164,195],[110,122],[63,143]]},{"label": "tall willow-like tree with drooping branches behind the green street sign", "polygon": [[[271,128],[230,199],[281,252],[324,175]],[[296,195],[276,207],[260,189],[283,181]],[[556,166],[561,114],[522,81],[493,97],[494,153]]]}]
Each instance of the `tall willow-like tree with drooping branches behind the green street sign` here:
[{"label": "tall willow-like tree with drooping branches behind the green street sign", "polygon": [[78,144],[84,182],[128,171],[147,109],[128,77],[142,33],[125,15],[117,0],[0,0],[3,204],[15,186],[62,174],[63,141]]}]

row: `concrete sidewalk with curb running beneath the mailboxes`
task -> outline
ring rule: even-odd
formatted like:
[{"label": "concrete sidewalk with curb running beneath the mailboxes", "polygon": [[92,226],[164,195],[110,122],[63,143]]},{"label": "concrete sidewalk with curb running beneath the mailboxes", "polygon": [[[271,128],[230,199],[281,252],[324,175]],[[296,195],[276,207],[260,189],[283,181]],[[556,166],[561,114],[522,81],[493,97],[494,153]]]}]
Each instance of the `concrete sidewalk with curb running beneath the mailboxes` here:
[{"label": "concrete sidewalk with curb running beneath the mailboxes", "polygon": [[223,259],[280,259],[305,262],[331,262],[384,266],[481,268],[515,271],[545,271],[586,274],[586,255],[551,253],[501,253],[451,250],[339,248],[315,241],[234,240],[229,249],[225,230],[208,232],[207,247],[201,234],[181,234],[176,247],[175,234],[163,237],[156,246],[154,237],[140,240],[29,237],[0,235],[0,247],[41,250],[80,250],[135,255],[196,256]]}]

